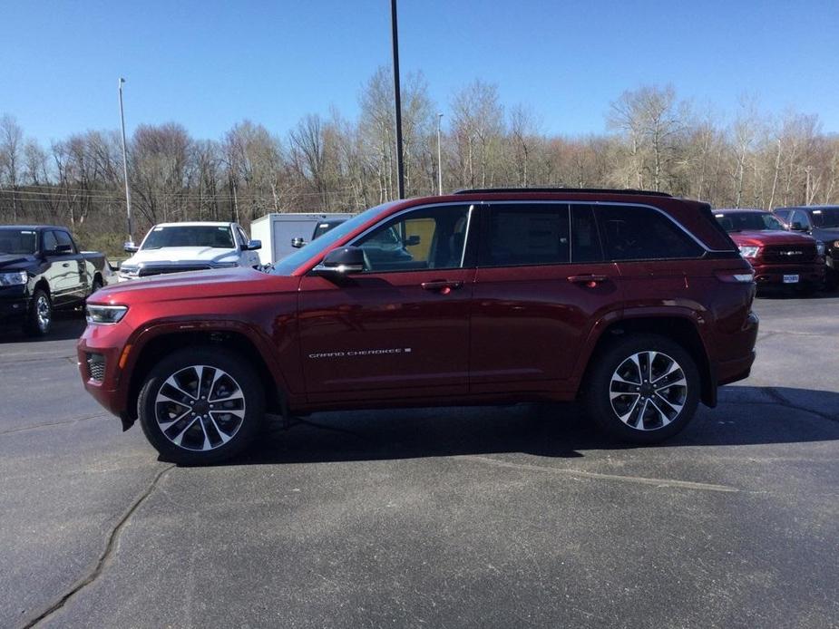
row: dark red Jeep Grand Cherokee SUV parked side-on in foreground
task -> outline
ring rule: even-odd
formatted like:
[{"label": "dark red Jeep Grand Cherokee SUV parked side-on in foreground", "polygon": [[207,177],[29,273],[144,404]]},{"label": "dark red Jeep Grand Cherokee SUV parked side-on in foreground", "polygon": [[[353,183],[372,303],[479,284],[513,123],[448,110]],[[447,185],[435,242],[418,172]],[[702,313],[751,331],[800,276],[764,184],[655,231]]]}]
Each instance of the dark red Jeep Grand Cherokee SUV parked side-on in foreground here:
[{"label": "dark red Jeep Grand Cherokee SUV parked side-on in foreground", "polygon": [[239,452],[267,413],[540,400],[650,443],[748,375],[754,296],[706,204],[468,190],[368,209],[266,272],[106,287],[79,365],[182,463]]}]

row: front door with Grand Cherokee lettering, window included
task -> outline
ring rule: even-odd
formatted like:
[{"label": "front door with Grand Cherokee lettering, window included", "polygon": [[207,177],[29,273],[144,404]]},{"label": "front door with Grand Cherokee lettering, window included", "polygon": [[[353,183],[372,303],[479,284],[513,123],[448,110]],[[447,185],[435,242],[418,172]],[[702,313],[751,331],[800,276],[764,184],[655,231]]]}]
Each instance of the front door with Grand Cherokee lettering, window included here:
[{"label": "front door with Grand Cherokee lettering, window included", "polygon": [[351,243],[364,273],[306,276],[299,325],[310,402],[467,390],[472,208],[412,208]]}]

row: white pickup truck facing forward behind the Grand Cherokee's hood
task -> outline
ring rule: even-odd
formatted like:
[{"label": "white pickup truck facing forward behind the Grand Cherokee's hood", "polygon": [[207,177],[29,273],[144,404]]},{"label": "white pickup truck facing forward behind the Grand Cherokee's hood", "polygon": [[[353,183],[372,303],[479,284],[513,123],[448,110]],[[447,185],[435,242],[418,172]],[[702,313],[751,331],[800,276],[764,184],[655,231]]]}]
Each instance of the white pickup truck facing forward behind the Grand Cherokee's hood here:
[{"label": "white pickup truck facing forward behind the Grand Cherokee's hood", "polygon": [[120,266],[120,281],[163,273],[229,266],[259,266],[259,240],[250,240],[238,223],[161,223],[151,227],[133,256]]}]

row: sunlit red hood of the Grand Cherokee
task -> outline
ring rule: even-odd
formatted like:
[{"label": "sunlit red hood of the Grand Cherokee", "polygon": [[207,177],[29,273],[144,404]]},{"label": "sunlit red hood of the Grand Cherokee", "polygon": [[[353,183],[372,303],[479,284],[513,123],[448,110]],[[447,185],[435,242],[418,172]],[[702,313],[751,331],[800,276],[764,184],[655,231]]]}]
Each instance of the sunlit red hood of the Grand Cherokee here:
[{"label": "sunlit red hood of the Grand Cherokee", "polygon": [[267,292],[297,291],[299,277],[273,276],[248,267],[151,276],[107,285],[96,293],[97,304],[223,299]]}]

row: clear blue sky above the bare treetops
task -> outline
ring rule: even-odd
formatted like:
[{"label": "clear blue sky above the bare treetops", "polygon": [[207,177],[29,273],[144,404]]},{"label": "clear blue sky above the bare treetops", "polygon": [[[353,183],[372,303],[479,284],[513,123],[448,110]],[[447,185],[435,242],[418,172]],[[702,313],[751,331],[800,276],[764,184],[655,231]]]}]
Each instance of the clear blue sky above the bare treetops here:
[{"label": "clear blue sky above the bare treetops", "polygon": [[[672,83],[718,115],[746,95],[839,132],[836,0],[402,0],[399,20],[403,77],[422,71],[440,111],[480,78],[542,131],[597,133],[621,92]],[[214,139],[244,119],[285,135],[330,106],[355,118],[391,63],[388,0],[4,0],[0,22],[0,113],[43,142],[118,128],[121,75],[129,133],[178,121]]]}]

